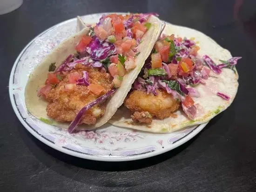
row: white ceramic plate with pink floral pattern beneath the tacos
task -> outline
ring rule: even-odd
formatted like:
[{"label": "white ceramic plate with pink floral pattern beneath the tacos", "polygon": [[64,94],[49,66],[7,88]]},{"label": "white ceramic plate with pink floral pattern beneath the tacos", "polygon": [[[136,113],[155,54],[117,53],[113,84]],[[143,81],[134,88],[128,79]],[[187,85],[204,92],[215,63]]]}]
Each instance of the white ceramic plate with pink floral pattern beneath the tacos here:
[{"label": "white ceramic plate with pink floral pattern beneath the tacos", "polygon": [[[87,23],[94,23],[101,14],[82,18]],[[13,110],[23,126],[37,139],[58,151],[84,159],[128,161],[170,151],[193,138],[206,126],[207,123],[173,133],[149,133],[106,124],[95,131],[69,134],[34,118],[27,112],[24,101],[28,76],[54,46],[75,33],[75,28],[74,18],[47,29],[27,44],[13,65],[9,81]]]}]

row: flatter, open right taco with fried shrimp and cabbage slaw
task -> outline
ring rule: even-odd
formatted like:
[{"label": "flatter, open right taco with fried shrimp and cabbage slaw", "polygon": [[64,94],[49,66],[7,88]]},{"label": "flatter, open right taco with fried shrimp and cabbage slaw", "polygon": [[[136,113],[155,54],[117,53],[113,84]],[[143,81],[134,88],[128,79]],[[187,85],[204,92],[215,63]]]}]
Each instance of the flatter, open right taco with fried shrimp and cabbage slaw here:
[{"label": "flatter, open right taco with fried shrimp and cabbage slaw", "polygon": [[167,24],[109,122],[149,132],[208,122],[236,96],[239,59],[201,32]]}]

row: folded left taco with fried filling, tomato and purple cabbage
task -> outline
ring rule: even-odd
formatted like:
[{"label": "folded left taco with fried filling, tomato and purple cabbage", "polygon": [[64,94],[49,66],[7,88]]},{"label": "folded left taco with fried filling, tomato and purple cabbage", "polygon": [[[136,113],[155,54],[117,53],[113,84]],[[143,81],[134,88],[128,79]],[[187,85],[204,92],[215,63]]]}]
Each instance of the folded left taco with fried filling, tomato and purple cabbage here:
[{"label": "folded left taco with fried filling, tomato and purple cabbage", "polygon": [[69,132],[102,126],[113,116],[162,30],[153,13],[80,24],[34,69],[25,90],[30,113]]}]

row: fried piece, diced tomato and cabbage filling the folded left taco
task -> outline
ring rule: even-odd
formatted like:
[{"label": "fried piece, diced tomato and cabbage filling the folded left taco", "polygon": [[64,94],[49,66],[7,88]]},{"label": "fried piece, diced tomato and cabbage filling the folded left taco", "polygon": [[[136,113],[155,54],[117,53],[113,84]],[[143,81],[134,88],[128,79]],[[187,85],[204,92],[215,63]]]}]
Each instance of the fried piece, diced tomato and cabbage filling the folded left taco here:
[{"label": "fried piece, diced tomato and cabbage filling the folded left taco", "polygon": [[125,74],[136,66],[140,54],[137,46],[151,23],[149,14],[103,15],[88,35],[76,45],[76,54],[70,54],[49,73],[38,90],[38,96],[47,100],[47,116],[60,122],[70,122],[69,132],[78,124],[95,124],[105,113],[101,102],[121,86]]}]

